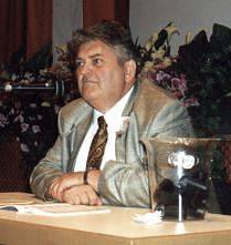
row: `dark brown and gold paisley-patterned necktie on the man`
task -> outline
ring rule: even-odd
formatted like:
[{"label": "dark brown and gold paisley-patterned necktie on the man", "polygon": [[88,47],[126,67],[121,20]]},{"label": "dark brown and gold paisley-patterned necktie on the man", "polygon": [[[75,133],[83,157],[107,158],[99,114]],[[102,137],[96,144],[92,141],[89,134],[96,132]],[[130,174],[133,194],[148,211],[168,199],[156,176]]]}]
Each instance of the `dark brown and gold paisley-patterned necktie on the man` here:
[{"label": "dark brown and gold paisley-patterned necktie on the man", "polygon": [[107,124],[104,120],[104,116],[99,116],[98,130],[93,137],[92,144],[90,146],[90,152],[86,162],[86,170],[97,169],[99,170],[102,159],[104,156],[104,150],[107,142]]}]

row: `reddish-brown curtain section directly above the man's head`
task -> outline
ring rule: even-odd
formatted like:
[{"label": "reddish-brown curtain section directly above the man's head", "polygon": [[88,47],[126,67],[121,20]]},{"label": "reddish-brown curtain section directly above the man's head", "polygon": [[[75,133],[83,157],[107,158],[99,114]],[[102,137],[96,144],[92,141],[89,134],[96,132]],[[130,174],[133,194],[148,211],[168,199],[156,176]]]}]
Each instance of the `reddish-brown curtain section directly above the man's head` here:
[{"label": "reddish-brown curtain section directly above the man's head", "polygon": [[129,0],[83,0],[83,25],[94,25],[102,20],[129,22]]}]

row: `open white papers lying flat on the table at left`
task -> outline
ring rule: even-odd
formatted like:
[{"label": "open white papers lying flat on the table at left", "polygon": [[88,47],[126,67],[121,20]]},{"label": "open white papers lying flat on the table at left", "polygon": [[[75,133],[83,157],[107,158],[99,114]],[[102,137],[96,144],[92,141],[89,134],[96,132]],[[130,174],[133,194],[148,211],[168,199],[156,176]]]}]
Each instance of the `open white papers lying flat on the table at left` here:
[{"label": "open white papers lying flat on the table at left", "polygon": [[67,203],[6,205],[1,206],[0,210],[17,211],[21,214],[34,214],[44,216],[74,216],[111,212],[111,210],[105,206],[71,205]]}]

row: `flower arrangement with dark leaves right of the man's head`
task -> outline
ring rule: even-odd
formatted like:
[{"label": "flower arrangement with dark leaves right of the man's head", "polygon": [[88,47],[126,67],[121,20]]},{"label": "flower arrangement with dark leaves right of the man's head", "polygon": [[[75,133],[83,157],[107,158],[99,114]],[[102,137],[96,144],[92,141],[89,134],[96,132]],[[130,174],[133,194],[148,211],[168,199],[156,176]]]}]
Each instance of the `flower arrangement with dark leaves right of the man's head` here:
[{"label": "flower arrangement with dark leaves right of the man's head", "polygon": [[200,31],[172,57],[170,40],[176,33],[169,23],[138,45],[140,76],[171,91],[188,108],[198,135],[230,133],[224,105],[229,108],[231,95],[231,30],[216,23],[210,40]]}]

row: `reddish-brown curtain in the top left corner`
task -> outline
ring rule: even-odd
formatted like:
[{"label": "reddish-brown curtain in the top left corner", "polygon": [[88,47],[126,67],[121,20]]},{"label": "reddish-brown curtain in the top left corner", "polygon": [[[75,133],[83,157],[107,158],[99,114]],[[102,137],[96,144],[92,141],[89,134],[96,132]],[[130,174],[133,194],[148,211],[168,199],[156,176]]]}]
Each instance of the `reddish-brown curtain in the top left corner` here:
[{"label": "reddish-brown curtain in the top left corner", "polygon": [[0,1],[0,62],[30,59],[52,40],[52,0]]}]

